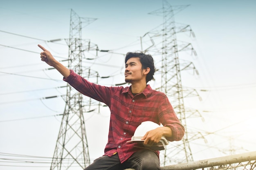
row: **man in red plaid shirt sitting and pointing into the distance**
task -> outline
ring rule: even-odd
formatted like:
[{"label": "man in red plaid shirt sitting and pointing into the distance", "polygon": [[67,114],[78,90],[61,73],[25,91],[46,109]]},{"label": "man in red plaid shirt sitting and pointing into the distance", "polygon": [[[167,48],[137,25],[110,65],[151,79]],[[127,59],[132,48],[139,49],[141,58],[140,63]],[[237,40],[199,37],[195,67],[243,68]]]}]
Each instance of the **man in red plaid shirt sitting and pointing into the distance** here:
[{"label": "man in red plaid shirt sitting and pointing into the distance", "polygon": [[56,61],[43,46],[41,60],[53,66],[68,82],[83,95],[89,96],[110,108],[110,128],[104,155],[96,159],[85,170],[160,170],[159,151],[127,143],[136,128],[144,121],[153,121],[163,126],[149,130],[141,140],[153,146],[162,137],[168,141],[179,141],[184,136],[171,103],[164,93],[152,90],[147,83],[154,79],[154,61],[151,55],[127,53],[125,58],[125,81],[129,87],[106,87],[88,82]]}]

